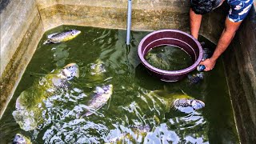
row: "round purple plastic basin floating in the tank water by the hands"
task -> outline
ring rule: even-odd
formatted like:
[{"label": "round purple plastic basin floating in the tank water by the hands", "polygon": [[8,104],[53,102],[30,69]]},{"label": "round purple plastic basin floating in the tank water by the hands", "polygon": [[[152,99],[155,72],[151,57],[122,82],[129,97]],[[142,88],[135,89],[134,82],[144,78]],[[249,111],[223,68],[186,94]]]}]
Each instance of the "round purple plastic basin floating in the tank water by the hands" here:
[{"label": "round purple plastic basin floating in the tank water by the hands", "polygon": [[[194,64],[183,70],[161,70],[146,62],[147,52],[158,46],[178,46],[190,55]],[[150,73],[165,82],[176,82],[186,77],[202,60],[202,46],[197,39],[180,30],[157,30],[147,34],[138,45],[138,56]]]}]

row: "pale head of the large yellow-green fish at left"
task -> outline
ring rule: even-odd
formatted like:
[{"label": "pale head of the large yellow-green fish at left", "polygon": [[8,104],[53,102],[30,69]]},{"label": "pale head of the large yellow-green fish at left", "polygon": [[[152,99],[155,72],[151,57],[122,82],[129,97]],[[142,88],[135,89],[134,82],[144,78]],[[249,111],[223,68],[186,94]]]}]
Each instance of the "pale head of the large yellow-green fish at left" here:
[{"label": "pale head of the large yellow-green fish at left", "polygon": [[79,68],[76,63],[70,63],[63,67],[62,75],[67,79],[71,80],[74,77],[79,77]]}]

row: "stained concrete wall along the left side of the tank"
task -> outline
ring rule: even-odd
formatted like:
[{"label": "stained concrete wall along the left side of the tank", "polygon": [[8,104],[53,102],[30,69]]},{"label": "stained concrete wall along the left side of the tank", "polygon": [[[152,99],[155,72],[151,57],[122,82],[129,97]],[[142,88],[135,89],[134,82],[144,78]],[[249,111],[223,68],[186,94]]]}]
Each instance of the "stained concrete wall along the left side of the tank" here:
[{"label": "stained concrete wall along the left side of the tank", "polygon": [[0,4],[0,118],[30,62],[42,34],[37,3],[2,0]]}]

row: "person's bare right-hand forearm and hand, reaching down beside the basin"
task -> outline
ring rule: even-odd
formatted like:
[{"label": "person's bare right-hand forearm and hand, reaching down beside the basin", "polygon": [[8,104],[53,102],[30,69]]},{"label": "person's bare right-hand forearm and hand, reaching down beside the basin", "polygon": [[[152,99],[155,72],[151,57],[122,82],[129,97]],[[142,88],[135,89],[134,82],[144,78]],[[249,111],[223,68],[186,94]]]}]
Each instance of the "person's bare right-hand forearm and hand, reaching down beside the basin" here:
[{"label": "person's bare right-hand forearm and hand, reaching down beside the basin", "polygon": [[206,66],[205,71],[209,71],[214,68],[217,59],[230,45],[230,42],[234,38],[234,34],[238,30],[238,27],[240,26],[241,23],[242,22],[231,22],[229,18],[226,18],[225,28],[222,31],[222,35],[218,40],[218,44],[216,46],[216,49],[214,50],[214,54],[211,56],[211,58],[208,58],[205,61],[200,62],[200,65]]}]

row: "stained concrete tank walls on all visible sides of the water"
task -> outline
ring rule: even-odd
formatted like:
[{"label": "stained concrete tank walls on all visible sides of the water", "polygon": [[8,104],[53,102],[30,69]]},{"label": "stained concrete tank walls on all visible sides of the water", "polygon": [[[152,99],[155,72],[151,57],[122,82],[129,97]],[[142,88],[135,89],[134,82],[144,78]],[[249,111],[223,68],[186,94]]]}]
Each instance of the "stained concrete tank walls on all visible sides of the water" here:
[{"label": "stained concrete tank walls on all visible sides of the water", "polygon": [[[189,32],[188,0],[133,0],[132,29],[178,29]],[[254,2],[254,6],[255,6]],[[38,41],[59,25],[126,29],[127,0],[2,0],[0,1],[0,118]],[[203,17],[200,34],[218,42],[228,6]],[[255,10],[242,23],[222,58],[242,143],[256,140]]]}]

